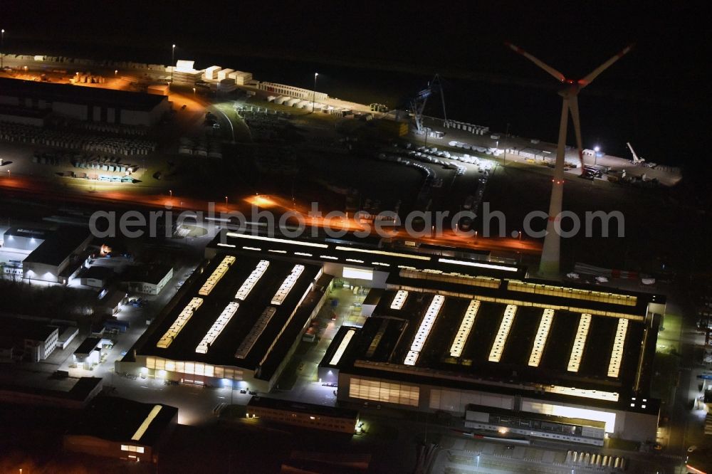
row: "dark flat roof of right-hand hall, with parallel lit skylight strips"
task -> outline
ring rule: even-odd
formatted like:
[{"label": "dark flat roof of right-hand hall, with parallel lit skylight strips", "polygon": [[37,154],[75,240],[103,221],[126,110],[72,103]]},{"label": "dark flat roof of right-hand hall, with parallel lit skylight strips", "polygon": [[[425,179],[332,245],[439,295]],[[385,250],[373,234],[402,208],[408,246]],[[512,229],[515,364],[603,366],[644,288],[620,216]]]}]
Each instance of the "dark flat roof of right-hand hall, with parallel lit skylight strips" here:
[{"label": "dark flat roof of right-hand hall, with parallel lit skylight strips", "polygon": [[[391,379],[420,379],[424,384],[443,386],[538,385],[550,389],[547,396],[554,399],[574,396],[571,387],[576,387],[598,397],[596,403],[616,406],[629,402],[637,380],[641,387],[649,383],[656,334],[654,329],[646,331],[644,322],[595,315],[582,326],[582,313],[550,310],[543,338],[538,339],[545,308],[517,305],[511,324],[506,325],[508,303],[479,301],[467,323],[472,300],[446,296],[428,326],[427,314],[436,295],[422,289],[410,290],[404,297],[398,292],[384,291],[362,328],[340,328],[320,365],[350,374],[387,373]],[[625,331],[617,346],[621,326]],[[345,344],[348,332],[353,334]],[[459,346],[457,341],[461,341]],[[532,365],[538,344],[540,351]],[[579,357],[572,355],[576,347],[581,349]],[[615,347],[619,347],[618,353]],[[609,370],[616,358],[617,376],[611,376]],[[575,370],[571,370],[572,361]],[[646,408],[651,406],[652,402]]]}]

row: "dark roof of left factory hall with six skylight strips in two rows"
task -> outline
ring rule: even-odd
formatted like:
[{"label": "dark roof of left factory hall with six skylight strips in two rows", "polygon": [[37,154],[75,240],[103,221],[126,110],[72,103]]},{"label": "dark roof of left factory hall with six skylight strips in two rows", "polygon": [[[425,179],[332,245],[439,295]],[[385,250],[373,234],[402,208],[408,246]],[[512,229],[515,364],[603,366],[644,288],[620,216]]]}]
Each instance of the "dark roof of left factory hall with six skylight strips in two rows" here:
[{"label": "dark roof of left factory hall with six skylight strips in two rows", "polygon": [[[268,265],[261,265],[263,261]],[[137,349],[138,354],[250,370],[262,364],[263,377],[268,376],[270,367],[276,369],[281,362],[277,354],[288,349],[296,339],[318,301],[311,293],[323,292],[316,288],[308,293],[320,268],[299,265],[299,275],[293,278],[288,290],[282,292],[283,300],[276,302],[276,294],[288,285],[285,282],[293,275],[295,263],[238,256],[208,292],[205,285],[214,281],[223,262],[224,256],[218,256],[204,268],[200,278],[194,279],[177,304],[157,322],[152,335]],[[259,273],[260,269],[263,273]],[[253,283],[246,287],[248,280]],[[239,290],[246,292],[244,299],[236,298]],[[194,309],[187,311],[190,305],[194,305]],[[269,307],[275,309],[265,315]],[[177,324],[182,318],[184,322]],[[206,339],[211,334],[216,336]],[[204,340],[202,352],[197,352]],[[238,352],[244,357],[237,357]],[[270,357],[266,357],[268,352]]]}]

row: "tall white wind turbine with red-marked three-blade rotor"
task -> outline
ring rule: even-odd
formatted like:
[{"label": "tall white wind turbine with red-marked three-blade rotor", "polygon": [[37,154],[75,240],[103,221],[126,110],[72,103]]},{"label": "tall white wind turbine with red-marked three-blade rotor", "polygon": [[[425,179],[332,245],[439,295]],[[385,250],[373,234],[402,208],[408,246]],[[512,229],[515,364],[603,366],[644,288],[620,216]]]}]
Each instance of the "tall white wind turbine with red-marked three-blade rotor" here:
[{"label": "tall white wind turbine with red-marked three-blade rotor", "polygon": [[607,60],[602,65],[598,66],[579,80],[567,79],[565,75],[552,68],[550,65],[530,55],[522,48],[514,46],[512,43],[505,43],[515,53],[524,56],[535,65],[545,70],[550,75],[553,75],[565,87],[559,91],[559,95],[563,98],[561,106],[561,121],[559,122],[559,142],[556,148],[556,164],[554,167],[553,185],[551,188],[551,200],[549,201],[549,218],[546,225],[546,236],[544,238],[544,246],[541,253],[539,263],[539,273],[542,276],[556,276],[559,273],[559,256],[560,256],[560,236],[555,230],[555,221],[560,219],[563,197],[564,184],[564,154],[566,146],[566,127],[568,125],[568,114],[571,111],[571,119],[574,122],[574,131],[576,133],[576,147],[578,149],[581,169],[583,171],[583,153],[581,145],[581,124],[579,122],[578,111],[578,93],[581,89],[593,82],[600,73],[610,67],[617,60],[622,58],[633,47],[626,46],[623,51]]}]

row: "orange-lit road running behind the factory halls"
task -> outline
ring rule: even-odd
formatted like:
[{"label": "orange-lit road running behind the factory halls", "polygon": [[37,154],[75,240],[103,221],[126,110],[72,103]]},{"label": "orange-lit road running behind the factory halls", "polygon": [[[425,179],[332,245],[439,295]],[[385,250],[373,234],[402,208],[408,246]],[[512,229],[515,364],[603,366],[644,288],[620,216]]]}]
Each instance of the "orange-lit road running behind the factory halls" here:
[{"label": "orange-lit road running behind the factory halls", "polygon": [[[103,183],[97,182],[100,187]],[[117,186],[120,184],[116,183]],[[108,186],[106,186],[108,187]],[[23,194],[32,194],[41,199],[48,201],[56,201],[63,199],[65,201],[73,201],[78,204],[114,204],[117,206],[140,206],[143,208],[153,209],[173,209],[174,211],[203,211],[210,212],[209,206],[212,204],[212,210],[216,217],[220,213],[242,213],[248,221],[251,220],[253,209],[269,209],[273,211],[275,221],[279,221],[279,217],[287,212],[293,218],[301,218],[307,226],[316,226],[319,228],[329,228],[337,232],[342,230],[347,231],[363,231],[364,226],[357,223],[353,218],[330,218],[320,216],[309,216],[308,206],[305,204],[293,203],[288,199],[282,199],[277,196],[268,198],[262,196],[246,196],[237,203],[209,203],[201,199],[194,199],[189,196],[165,196],[164,194],[135,194],[125,191],[88,191],[86,193],[64,192],[58,194],[56,186],[50,182],[41,179],[31,179],[29,177],[19,177],[11,173],[7,176],[0,177],[0,189],[6,191],[16,191]],[[447,227],[447,226],[445,226]],[[394,230],[389,226],[384,226],[387,229],[389,236],[400,238],[406,241],[418,241],[420,243],[437,244],[441,246],[471,248],[476,250],[492,250],[492,251],[510,251],[527,254],[540,253],[540,243],[536,241],[520,240],[518,238],[484,238],[481,236],[462,236],[456,235],[454,231],[444,229],[441,235],[424,236],[413,238],[407,231],[398,229]],[[371,235],[375,234],[375,229],[370,226]]]}]

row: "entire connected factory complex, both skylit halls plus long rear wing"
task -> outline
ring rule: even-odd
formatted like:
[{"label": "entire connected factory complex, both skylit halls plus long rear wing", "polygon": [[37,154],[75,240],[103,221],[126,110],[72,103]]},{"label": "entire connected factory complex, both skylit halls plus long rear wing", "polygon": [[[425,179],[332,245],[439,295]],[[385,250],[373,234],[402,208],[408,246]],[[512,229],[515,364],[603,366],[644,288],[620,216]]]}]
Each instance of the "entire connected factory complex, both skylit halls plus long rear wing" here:
[{"label": "entire connected factory complex, both skylit halls plus long rear wing", "polygon": [[320,364],[342,404],[462,417],[470,406],[467,423],[478,429],[506,431],[518,417],[538,428],[530,436],[560,431],[594,445],[655,439],[659,401],[649,385],[661,295],[557,285],[482,254],[347,238],[223,230],[206,258],[199,281],[117,370],[269,391],[342,278],[372,288],[364,325],[341,327]]}]

